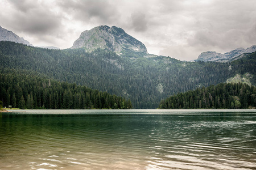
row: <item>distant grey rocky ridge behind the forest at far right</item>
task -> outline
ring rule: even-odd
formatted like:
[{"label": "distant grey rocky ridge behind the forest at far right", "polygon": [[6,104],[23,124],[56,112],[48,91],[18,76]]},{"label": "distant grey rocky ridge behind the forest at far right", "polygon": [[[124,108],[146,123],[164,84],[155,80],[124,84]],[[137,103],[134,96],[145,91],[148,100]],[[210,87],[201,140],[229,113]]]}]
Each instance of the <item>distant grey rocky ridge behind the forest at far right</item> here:
[{"label": "distant grey rocky ridge behind the forest at far right", "polygon": [[256,45],[251,46],[250,48],[237,48],[230,52],[221,54],[216,52],[203,52],[199,55],[195,61],[217,61],[217,62],[229,62],[234,61],[238,58],[242,58],[245,53],[253,53],[256,51]]}]

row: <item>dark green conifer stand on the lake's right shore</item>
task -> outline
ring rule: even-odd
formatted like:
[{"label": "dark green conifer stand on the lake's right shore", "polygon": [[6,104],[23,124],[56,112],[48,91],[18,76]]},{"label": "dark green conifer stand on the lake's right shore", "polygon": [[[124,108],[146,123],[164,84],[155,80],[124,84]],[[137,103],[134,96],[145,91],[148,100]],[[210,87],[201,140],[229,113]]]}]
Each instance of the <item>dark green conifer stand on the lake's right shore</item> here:
[{"label": "dark green conifer stand on the lake's right shore", "polygon": [[220,83],[197,88],[160,101],[160,109],[247,109],[256,107],[256,87]]}]

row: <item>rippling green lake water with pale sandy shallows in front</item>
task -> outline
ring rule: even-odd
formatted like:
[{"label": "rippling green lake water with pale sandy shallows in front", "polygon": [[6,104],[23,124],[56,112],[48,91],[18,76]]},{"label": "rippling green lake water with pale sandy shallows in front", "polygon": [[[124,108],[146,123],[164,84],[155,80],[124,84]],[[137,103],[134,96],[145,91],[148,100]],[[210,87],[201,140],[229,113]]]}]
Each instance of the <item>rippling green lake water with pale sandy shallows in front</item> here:
[{"label": "rippling green lake water with pale sandy shallows in front", "polygon": [[0,169],[256,169],[256,111],[0,113]]}]

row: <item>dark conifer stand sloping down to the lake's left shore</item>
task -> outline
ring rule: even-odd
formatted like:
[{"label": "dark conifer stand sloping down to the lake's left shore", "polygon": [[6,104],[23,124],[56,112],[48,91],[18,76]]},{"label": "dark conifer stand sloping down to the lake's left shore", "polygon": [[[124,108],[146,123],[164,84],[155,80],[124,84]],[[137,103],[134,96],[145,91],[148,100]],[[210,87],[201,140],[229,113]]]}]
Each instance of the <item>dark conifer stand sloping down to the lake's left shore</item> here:
[{"label": "dark conifer stand sloping down to the lake's left shore", "polygon": [[20,109],[130,109],[131,101],[75,83],[42,78],[28,71],[0,73],[3,107]]}]

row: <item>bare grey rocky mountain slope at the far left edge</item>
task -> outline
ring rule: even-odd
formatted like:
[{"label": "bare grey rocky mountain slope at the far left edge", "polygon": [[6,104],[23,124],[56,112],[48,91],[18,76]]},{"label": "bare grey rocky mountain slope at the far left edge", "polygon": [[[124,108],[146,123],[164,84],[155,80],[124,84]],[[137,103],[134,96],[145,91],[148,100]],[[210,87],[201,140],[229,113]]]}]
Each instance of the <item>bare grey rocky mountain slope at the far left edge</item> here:
[{"label": "bare grey rocky mountain slope at the far left edge", "polygon": [[2,28],[1,26],[0,26],[0,41],[13,41],[13,42],[21,43],[24,45],[32,46],[32,44],[30,44],[30,42],[28,42],[27,40],[24,40],[22,37],[19,37],[12,31]]}]

